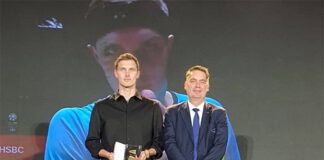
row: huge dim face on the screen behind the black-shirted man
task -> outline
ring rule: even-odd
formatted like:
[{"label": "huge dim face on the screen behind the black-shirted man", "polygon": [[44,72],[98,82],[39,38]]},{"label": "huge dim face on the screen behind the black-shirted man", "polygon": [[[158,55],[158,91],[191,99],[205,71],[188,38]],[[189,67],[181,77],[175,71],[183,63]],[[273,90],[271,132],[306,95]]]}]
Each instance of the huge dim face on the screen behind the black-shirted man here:
[{"label": "huge dim face on the screen behind the black-shirted man", "polygon": [[148,28],[125,28],[99,38],[95,44],[95,54],[114,91],[118,88],[114,60],[120,54],[129,52],[137,57],[141,65],[137,88],[155,92],[165,80],[169,40]]}]

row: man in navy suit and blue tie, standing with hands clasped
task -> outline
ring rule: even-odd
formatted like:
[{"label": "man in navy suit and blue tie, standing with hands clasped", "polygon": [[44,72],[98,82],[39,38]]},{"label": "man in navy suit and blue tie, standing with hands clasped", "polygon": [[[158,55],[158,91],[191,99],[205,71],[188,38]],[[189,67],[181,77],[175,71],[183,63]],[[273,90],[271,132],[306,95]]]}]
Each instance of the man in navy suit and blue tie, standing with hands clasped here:
[{"label": "man in navy suit and blue tie, standing with hands clasped", "polygon": [[186,72],[188,101],[170,106],[165,114],[164,147],[169,160],[220,160],[226,150],[225,109],[205,101],[209,90],[206,67]]}]

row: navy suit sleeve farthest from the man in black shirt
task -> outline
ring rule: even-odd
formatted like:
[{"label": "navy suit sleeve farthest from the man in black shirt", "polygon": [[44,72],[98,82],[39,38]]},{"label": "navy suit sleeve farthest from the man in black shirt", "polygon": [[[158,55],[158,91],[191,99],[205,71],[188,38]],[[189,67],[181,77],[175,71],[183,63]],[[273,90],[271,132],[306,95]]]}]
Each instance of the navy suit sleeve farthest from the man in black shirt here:
[{"label": "navy suit sleeve farthest from the man in black shirt", "polygon": [[204,160],[221,160],[226,151],[228,127],[226,120],[226,112],[224,110],[214,111],[214,124],[216,126],[216,134],[213,147],[209,150]]}]

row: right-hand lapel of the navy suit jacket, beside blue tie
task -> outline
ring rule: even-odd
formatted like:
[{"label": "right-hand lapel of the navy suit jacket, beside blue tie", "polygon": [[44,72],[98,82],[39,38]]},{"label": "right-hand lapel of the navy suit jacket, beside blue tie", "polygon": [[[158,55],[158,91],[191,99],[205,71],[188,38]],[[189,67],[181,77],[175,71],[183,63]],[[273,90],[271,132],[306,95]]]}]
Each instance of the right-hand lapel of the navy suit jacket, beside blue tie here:
[{"label": "right-hand lapel of the navy suit jacket, beside blue tie", "polygon": [[210,120],[210,107],[208,106],[208,103],[205,103],[204,105],[204,110],[202,114],[202,120],[201,120],[201,125],[199,129],[199,139],[198,142],[200,142],[205,135],[207,135],[208,131],[208,125],[209,125],[209,120]]}]

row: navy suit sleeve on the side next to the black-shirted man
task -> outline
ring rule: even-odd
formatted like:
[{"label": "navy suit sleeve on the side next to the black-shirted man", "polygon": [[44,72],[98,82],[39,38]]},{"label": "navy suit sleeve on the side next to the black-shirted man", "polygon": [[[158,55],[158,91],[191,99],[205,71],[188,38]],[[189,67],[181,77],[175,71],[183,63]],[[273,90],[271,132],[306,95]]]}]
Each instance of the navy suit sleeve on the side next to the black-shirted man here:
[{"label": "navy suit sleeve on the side next to the black-shirted man", "polygon": [[172,116],[171,111],[167,111],[164,119],[163,141],[165,152],[169,159],[186,160],[177,146],[175,139],[175,115]]}]

